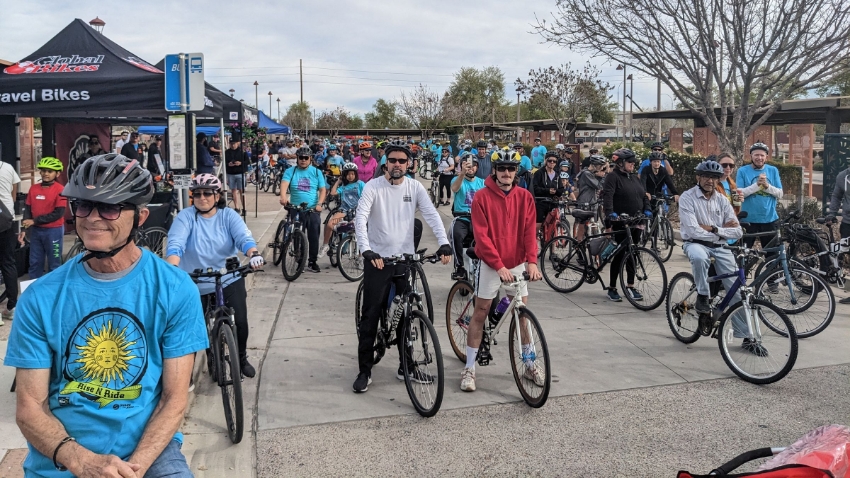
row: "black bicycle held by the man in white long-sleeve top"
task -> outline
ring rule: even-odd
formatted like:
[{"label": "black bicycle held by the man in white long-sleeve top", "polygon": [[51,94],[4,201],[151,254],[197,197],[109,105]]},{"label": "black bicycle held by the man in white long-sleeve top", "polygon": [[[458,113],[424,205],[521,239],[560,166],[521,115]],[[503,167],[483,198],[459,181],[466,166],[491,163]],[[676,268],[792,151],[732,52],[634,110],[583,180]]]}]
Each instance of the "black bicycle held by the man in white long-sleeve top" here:
[{"label": "black bicycle held by the man in white long-sleeve top", "polygon": [[[375,358],[377,364],[392,345],[399,346],[404,385],[416,412],[423,417],[433,417],[443,401],[444,373],[443,353],[440,340],[431,319],[423,312],[422,296],[417,291],[415,274],[425,261],[436,263],[436,254],[402,254],[383,258],[384,267],[405,266],[407,290],[396,295],[395,282],[391,282],[386,307],[381,308],[378,333],[375,336]],[[403,277],[393,276],[394,279]],[[363,299],[364,281],[360,281],[354,301],[354,325],[360,337],[360,309]],[[427,294],[427,292],[426,292]],[[430,298],[429,300],[430,301]],[[390,316],[390,310],[393,311]],[[401,326],[401,333],[398,328]],[[400,342],[401,341],[401,342]],[[401,353],[401,349],[404,352]]]}]

